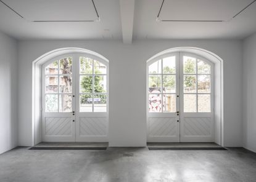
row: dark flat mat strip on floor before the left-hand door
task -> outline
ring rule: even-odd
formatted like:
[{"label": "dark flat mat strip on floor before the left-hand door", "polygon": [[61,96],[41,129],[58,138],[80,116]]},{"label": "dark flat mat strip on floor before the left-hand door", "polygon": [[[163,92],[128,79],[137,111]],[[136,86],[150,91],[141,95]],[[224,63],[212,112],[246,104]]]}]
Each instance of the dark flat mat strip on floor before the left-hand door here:
[{"label": "dark flat mat strip on floor before the left-hand door", "polygon": [[104,151],[106,147],[43,147],[43,146],[33,146],[29,148],[30,150],[93,150],[93,151]]}]

